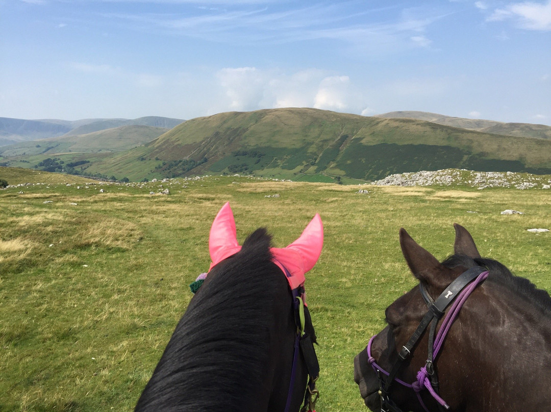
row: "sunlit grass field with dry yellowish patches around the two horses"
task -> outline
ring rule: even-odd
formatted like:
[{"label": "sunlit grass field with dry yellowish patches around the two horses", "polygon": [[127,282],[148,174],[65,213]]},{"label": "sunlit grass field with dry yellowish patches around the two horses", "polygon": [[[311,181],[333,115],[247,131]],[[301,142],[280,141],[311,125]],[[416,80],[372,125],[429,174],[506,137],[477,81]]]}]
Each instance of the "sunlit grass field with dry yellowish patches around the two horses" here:
[{"label": "sunlit grass field with dry yellowish patches around the two horses", "polygon": [[[382,328],[385,307],[415,284],[399,227],[444,259],[459,223],[483,256],[551,291],[551,233],[527,231],[551,229],[551,191],[542,189],[245,177],[58,183],[0,191],[2,411],[132,410],[191,299],[188,284],[208,269],[209,227],[228,200],[240,242],[267,226],[274,246],[284,247],[321,214],[325,246],[306,274],[320,412],[367,410],[353,358]],[[165,188],[170,194],[149,194]],[[525,214],[501,215],[505,209]]]}]

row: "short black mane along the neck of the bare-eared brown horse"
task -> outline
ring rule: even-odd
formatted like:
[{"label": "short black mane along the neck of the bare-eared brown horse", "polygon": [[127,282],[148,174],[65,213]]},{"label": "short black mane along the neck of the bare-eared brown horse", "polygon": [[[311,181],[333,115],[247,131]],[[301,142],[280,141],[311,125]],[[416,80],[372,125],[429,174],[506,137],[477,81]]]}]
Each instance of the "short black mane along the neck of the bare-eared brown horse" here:
[{"label": "short black mane along the neck of the bare-eared brown horse", "polygon": [[551,317],[551,297],[543,289],[536,288],[530,280],[515,276],[507,267],[494,259],[489,258],[471,258],[463,254],[453,254],[442,264],[447,268],[465,267],[467,269],[473,266],[482,266],[488,269],[488,280],[505,286],[511,292],[523,300],[530,302],[542,313]]}]

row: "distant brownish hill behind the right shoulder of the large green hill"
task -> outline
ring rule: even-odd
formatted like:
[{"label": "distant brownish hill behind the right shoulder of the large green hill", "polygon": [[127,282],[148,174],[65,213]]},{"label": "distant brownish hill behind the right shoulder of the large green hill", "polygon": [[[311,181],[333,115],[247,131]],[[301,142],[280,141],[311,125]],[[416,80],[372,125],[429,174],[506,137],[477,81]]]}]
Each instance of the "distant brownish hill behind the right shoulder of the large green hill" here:
[{"label": "distant brownish hill behind the right shoulder of the large green hill", "polygon": [[477,132],[503,134],[516,137],[533,137],[537,139],[551,139],[551,126],[531,123],[503,123],[493,120],[467,119],[451,117],[430,112],[397,111],[376,115],[385,118],[410,118],[427,122],[443,124],[444,126],[460,127]]}]

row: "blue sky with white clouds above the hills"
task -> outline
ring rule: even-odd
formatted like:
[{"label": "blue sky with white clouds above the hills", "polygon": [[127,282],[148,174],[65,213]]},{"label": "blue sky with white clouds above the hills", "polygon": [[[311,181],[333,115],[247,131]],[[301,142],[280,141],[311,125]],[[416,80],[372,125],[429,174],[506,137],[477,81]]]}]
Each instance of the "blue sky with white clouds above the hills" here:
[{"label": "blue sky with white clouds above the hills", "polygon": [[276,107],[551,125],[551,0],[0,0],[0,117]]}]

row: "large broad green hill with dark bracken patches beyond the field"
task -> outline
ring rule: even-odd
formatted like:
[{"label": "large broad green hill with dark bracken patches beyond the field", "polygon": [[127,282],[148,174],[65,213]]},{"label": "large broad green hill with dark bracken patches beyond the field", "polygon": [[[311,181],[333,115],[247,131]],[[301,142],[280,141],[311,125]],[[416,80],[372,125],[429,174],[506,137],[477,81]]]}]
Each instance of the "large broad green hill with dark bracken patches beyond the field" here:
[{"label": "large broad green hill with dark bracken patches beyond the field", "polygon": [[[57,157],[66,164],[78,164],[83,174],[127,176],[134,181],[246,174],[348,182],[449,168],[549,174],[551,140],[482,133],[414,119],[269,109],[188,120],[121,153]],[[25,161],[33,167],[39,160]]]}]

